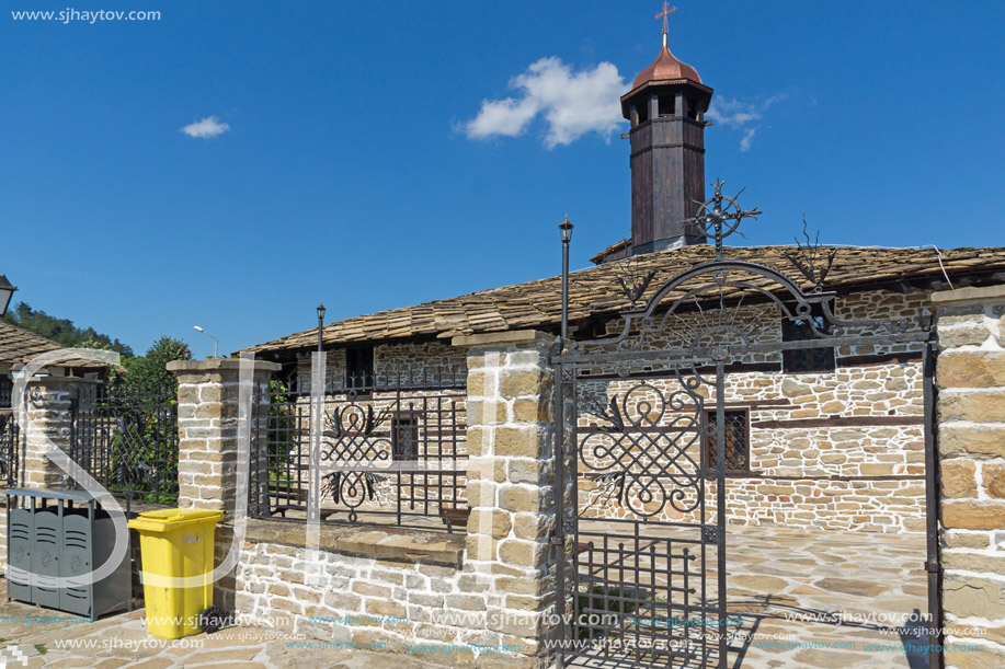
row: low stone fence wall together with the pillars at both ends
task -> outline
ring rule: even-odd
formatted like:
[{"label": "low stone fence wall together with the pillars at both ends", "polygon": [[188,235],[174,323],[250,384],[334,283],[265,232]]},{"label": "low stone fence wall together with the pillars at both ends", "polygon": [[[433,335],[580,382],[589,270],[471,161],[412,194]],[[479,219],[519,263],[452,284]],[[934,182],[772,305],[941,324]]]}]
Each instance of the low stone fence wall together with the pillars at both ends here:
[{"label": "low stone fence wall together with the pillars at both ends", "polygon": [[[218,603],[232,601],[245,622],[438,665],[549,667],[541,642],[555,605],[552,343],[535,332],[455,341],[467,370],[467,532],[322,522],[315,552],[302,521],[250,520]],[[171,368],[180,383],[182,498],[229,510],[236,361]],[[233,530],[218,533],[218,558]]]}]

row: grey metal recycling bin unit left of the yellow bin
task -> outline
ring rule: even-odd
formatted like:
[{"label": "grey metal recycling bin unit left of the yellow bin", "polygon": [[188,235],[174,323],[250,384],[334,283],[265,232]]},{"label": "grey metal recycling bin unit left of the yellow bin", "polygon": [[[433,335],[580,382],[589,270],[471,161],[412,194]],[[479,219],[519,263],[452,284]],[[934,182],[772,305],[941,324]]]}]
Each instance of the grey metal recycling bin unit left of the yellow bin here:
[{"label": "grey metal recycling bin unit left of the yellow bin", "polygon": [[104,564],[114,545],[112,518],[90,493],[8,491],[8,600],[85,615],[92,621],[128,609],[133,598],[128,544],[115,570],[100,581],[81,578],[58,588],[55,580],[72,579]]}]

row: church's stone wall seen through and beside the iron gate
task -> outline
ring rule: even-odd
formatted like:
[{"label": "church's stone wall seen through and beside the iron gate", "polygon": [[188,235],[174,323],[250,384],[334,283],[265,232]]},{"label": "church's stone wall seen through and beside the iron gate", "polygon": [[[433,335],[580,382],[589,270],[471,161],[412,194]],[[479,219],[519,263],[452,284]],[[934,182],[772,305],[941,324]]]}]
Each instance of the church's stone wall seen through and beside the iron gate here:
[{"label": "church's stone wall seen through and beside the iron gate", "polygon": [[[913,324],[929,305],[929,292],[870,291],[837,298],[834,310],[841,320],[905,319]],[[682,316],[684,321],[688,318]],[[713,321],[717,316],[708,318]],[[780,342],[778,308],[745,305],[735,318],[757,343]],[[623,328],[624,322],[612,321],[602,336],[613,336]],[[647,345],[682,346],[682,333],[686,331],[684,323],[667,323],[661,334],[647,337]],[[870,332],[849,327],[848,334]],[[798,373],[780,371],[781,354],[777,350],[730,359],[726,408],[747,415],[750,471],[727,477],[728,522],[924,532],[921,351],[916,343],[845,346],[835,351],[833,371]],[[594,371],[614,374],[616,370],[612,367]],[[639,388],[643,383],[650,388]],[[673,379],[581,381],[579,389],[581,445],[586,430],[606,425],[589,413],[590,408],[607,406],[613,399],[620,404],[627,394],[621,413],[631,419],[640,417],[639,407],[652,413],[663,406],[664,397],[673,393],[682,396],[681,383]],[[710,383],[695,392],[704,399],[706,410],[715,407]],[[692,404],[688,399],[677,411],[666,407],[659,424],[665,427],[679,419],[700,420]],[[677,427],[682,424],[677,423]],[[604,438],[591,437],[590,446],[597,446]],[[696,436],[687,452],[695,462],[699,460]],[[669,481],[666,485],[674,487]],[[581,505],[590,504],[597,488],[596,483],[581,476]],[[706,507],[709,515],[715,514],[715,488],[711,484],[707,489],[712,503]],[[591,514],[619,517],[626,511],[619,505],[607,504],[591,507]],[[692,516],[688,520],[696,520]],[[662,518],[679,520],[684,515],[667,505]]]}]

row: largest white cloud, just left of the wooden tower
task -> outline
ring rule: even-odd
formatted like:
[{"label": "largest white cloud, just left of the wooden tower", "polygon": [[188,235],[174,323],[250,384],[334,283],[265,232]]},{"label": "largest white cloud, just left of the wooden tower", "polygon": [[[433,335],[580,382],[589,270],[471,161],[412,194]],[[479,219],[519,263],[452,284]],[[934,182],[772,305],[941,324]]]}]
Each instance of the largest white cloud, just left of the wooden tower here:
[{"label": "largest white cloud, just left of the wooden tower", "polygon": [[469,139],[517,137],[538,114],[548,124],[544,141],[549,149],[591,131],[609,138],[621,124],[626,82],[609,62],[573,72],[560,58],[541,58],[514,77],[510,88],[521,95],[483,100],[478,115],[461,126]]}]

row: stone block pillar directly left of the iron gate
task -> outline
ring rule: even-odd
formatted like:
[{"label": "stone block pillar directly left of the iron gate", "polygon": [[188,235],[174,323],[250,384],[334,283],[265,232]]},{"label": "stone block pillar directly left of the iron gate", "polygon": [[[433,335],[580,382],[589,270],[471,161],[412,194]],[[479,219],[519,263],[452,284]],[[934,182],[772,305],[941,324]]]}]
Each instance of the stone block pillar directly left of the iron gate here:
[{"label": "stone block pillar directly left of the iron gate", "polygon": [[467,348],[468,520],[465,572],[488,586],[487,628],[519,653],[483,653],[479,668],[553,665],[543,638],[556,598],[552,505],[556,337],[536,331],[456,337]]}]

